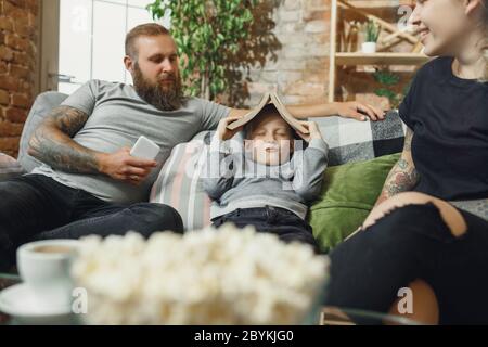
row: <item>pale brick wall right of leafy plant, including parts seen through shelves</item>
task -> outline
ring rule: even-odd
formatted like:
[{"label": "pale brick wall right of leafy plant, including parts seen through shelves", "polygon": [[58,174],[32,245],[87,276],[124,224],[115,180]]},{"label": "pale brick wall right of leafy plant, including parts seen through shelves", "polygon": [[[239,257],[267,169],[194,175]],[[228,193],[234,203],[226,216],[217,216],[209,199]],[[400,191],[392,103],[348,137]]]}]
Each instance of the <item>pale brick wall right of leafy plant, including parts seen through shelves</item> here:
[{"label": "pale brick wall right of leafy plant, including parts seen through shelves", "polygon": [[[272,1],[272,0],[269,0]],[[355,0],[356,5],[377,7],[374,14],[396,23],[398,5],[411,4],[409,0]],[[331,0],[282,0],[273,9],[275,27],[273,34],[281,43],[274,53],[275,61],[268,61],[264,67],[251,72],[252,81],[247,83],[251,97],[246,104],[258,103],[262,92],[278,91],[286,103],[325,102],[329,93],[329,52],[331,30]],[[410,48],[410,47],[407,47]],[[406,49],[407,49],[406,48]],[[401,50],[401,47],[400,47]],[[397,69],[400,91],[411,79],[412,67]],[[386,98],[373,92],[376,85],[372,75],[362,67],[338,69],[337,78],[344,93],[341,100],[361,100],[388,107]]]}]

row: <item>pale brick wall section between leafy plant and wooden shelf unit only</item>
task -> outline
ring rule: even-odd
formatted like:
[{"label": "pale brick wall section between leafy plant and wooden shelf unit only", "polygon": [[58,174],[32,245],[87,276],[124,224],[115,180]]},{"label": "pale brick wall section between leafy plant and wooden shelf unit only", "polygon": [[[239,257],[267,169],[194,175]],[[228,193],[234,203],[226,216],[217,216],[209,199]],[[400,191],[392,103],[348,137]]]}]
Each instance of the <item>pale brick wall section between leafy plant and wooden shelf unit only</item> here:
[{"label": "pale brick wall section between leafy plant and wooden shelf unit only", "polygon": [[273,34],[281,44],[275,61],[251,72],[247,83],[256,104],[265,91],[278,91],[285,103],[318,102],[326,98],[330,46],[330,0],[277,1]]}]

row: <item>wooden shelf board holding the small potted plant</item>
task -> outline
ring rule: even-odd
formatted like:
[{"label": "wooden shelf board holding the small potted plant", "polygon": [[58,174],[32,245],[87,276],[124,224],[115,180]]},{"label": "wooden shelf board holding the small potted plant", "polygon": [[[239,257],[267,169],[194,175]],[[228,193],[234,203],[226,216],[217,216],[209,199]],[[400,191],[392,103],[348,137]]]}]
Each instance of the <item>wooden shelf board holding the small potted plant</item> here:
[{"label": "wooden shelf board holding the small potted plant", "polygon": [[337,65],[420,65],[431,57],[419,53],[336,53]]}]

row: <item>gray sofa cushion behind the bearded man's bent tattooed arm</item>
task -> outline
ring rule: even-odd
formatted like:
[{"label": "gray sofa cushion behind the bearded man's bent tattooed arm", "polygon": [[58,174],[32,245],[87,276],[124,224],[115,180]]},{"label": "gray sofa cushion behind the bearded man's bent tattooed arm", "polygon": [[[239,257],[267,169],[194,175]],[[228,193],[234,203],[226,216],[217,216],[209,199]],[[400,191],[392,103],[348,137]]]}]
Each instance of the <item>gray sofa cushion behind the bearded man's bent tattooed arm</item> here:
[{"label": "gray sofa cushion behind the bearded man's bent tattooed arm", "polygon": [[25,171],[30,172],[35,167],[41,163],[27,154],[30,137],[34,130],[39,126],[42,119],[51,112],[52,108],[57,107],[65,99],[66,94],[55,91],[48,91],[39,94],[30,108],[27,120],[24,125],[24,130],[21,136],[21,143],[18,150],[18,162]]}]

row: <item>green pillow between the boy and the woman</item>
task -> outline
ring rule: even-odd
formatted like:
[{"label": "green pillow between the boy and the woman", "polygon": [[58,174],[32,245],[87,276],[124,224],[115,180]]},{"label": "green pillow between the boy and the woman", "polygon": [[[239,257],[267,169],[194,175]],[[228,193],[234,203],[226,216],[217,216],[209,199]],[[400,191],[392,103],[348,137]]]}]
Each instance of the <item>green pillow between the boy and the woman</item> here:
[{"label": "green pillow between the boy and the woman", "polygon": [[309,214],[322,250],[329,252],[363,223],[399,158],[397,153],[325,170],[322,193]]}]

